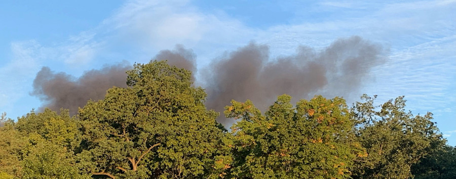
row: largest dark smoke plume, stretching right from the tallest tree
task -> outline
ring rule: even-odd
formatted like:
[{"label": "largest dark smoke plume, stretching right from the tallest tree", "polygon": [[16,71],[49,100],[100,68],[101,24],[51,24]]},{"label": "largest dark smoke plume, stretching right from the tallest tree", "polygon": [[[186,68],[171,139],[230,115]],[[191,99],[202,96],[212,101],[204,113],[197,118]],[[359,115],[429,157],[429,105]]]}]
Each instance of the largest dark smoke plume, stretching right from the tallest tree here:
[{"label": "largest dark smoke plume, stretching right from the tallest tree", "polygon": [[[356,92],[370,69],[384,62],[381,46],[353,36],[338,39],[321,52],[299,47],[295,55],[269,58],[269,47],[250,43],[211,64],[206,74],[208,108],[218,112],[232,99],[250,99],[267,109],[282,94],[294,100],[314,95]],[[223,124],[231,124],[219,118]]]}]

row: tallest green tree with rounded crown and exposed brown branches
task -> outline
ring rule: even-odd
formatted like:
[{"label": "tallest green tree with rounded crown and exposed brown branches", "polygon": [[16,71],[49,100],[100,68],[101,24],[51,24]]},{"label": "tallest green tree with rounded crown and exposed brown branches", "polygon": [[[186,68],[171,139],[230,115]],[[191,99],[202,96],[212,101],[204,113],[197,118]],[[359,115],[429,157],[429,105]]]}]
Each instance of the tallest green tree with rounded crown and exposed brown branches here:
[{"label": "tallest green tree with rounded crown and exposed brown branches", "polygon": [[[85,134],[81,169],[127,178],[208,177],[222,130],[206,94],[193,87],[191,72],[166,62],[135,64],[127,88],[113,87],[105,99],[80,109]],[[215,173],[218,175],[218,173]]]}]

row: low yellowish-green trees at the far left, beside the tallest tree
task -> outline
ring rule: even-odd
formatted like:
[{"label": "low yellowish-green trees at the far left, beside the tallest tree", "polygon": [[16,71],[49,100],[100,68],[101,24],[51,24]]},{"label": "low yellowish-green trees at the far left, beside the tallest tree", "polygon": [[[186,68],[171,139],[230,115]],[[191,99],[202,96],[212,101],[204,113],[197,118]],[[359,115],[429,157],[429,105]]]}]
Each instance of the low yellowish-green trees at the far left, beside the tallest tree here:
[{"label": "low yellowish-green trees at the far left, beside the tallest tree", "polygon": [[[7,150],[13,153],[8,173],[23,178],[82,178],[72,165],[74,149],[79,147],[77,120],[71,118],[67,110],[60,114],[50,109],[43,113],[31,111],[2,128],[8,132],[4,138]],[[8,169],[8,167],[2,167]]]}]

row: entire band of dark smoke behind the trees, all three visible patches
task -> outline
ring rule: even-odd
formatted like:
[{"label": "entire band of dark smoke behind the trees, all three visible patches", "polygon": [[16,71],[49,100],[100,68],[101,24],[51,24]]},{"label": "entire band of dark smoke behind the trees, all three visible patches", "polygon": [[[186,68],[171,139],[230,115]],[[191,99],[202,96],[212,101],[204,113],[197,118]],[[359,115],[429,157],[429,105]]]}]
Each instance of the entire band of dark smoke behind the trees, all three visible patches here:
[{"label": "entire band of dark smoke behind the trees, all three visible patches", "polygon": [[[223,114],[223,107],[232,99],[250,99],[259,109],[266,109],[277,96],[288,94],[294,101],[321,94],[327,97],[345,96],[357,92],[370,70],[385,61],[386,50],[358,36],[335,40],[317,51],[301,46],[290,56],[270,58],[269,47],[250,43],[215,59],[202,71],[208,99],[206,106]],[[196,72],[196,55],[191,49],[176,45],[160,51],[154,59],[168,60],[170,65]],[[44,67],[33,82],[32,95],[53,110],[70,109],[75,114],[87,100],[104,97],[112,86],[125,87],[128,65],[113,65],[91,70],[80,78],[65,73],[53,73]],[[223,116],[219,122],[233,123]]]}]

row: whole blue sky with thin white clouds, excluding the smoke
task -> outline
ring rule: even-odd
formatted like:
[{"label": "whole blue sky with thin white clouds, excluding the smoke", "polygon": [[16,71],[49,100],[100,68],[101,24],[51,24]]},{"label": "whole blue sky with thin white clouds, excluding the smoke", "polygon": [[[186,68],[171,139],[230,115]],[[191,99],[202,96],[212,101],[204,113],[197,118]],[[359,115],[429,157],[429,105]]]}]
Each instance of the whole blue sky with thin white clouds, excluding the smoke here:
[{"label": "whole blue sky with thin white clouds, excluding the smoke", "polygon": [[43,66],[80,76],[124,60],[146,63],[180,43],[202,69],[252,40],[279,57],[359,35],[389,48],[389,60],[348,101],[404,95],[413,114],[434,113],[454,146],[455,19],[454,0],[1,1],[0,112],[16,118],[41,105],[29,93]]}]

